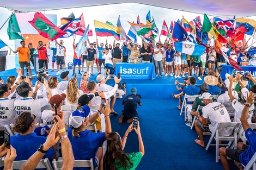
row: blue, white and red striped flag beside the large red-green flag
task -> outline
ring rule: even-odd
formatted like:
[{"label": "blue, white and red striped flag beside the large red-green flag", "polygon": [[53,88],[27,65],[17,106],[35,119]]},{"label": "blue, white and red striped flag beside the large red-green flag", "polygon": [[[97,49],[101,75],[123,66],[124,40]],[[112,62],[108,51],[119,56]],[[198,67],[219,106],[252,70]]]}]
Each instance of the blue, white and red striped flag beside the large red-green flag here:
[{"label": "blue, white and red striped flag beside the large red-green flag", "polygon": [[60,29],[66,32],[66,34],[61,36],[61,38],[70,37],[72,34],[75,34],[80,26],[80,21],[81,18],[76,18],[62,26]]}]

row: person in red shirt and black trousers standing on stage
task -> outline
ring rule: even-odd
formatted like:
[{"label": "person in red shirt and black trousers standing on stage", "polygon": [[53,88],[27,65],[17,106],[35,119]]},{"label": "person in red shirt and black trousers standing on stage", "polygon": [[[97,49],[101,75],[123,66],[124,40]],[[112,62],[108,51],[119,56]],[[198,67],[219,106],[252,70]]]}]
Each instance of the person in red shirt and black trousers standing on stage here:
[{"label": "person in red shirt and black trousers standing on stage", "polygon": [[46,72],[46,74],[48,74],[48,54],[47,54],[47,49],[46,44],[44,44],[44,42],[42,41],[38,41],[38,64],[39,64],[39,68],[38,68],[38,73],[44,73]]}]

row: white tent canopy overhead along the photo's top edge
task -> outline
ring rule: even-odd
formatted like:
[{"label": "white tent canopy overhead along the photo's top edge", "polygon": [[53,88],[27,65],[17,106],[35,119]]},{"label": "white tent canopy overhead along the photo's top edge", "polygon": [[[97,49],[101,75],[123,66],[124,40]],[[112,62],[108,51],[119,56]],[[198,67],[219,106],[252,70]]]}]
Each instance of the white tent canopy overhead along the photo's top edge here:
[{"label": "white tent canopy overhead along the photo's top edge", "polygon": [[[56,10],[56,9],[67,9],[67,8],[79,8],[79,7],[90,7],[95,5],[107,5],[107,4],[119,4],[119,3],[139,3],[145,5],[153,5],[155,7],[162,7],[168,9],[176,9],[188,12],[195,12],[198,14],[208,14],[212,16],[219,16],[225,18],[236,17],[248,17],[256,15],[256,1],[252,0],[137,0],[137,1],[114,1],[114,0],[8,0],[2,1],[1,6],[11,10],[17,10],[21,12],[33,12],[33,11],[44,11],[44,10]],[[132,10],[132,9],[131,9]],[[133,11],[132,11],[133,12]]]}]

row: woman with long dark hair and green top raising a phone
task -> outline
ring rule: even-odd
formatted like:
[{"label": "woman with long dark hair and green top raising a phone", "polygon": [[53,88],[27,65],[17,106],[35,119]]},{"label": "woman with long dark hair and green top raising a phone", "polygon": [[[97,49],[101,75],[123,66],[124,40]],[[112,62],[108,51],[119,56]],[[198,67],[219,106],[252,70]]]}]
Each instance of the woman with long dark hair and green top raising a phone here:
[{"label": "woman with long dark hair and green top raising a phone", "polygon": [[[133,129],[136,131],[139,138],[139,152],[125,154],[123,150],[125,147],[126,139],[128,134]],[[135,169],[139,165],[139,162],[141,162],[144,153],[144,144],[142,141],[141,128],[139,127],[139,123],[137,129],[133,128],[131,124],[126,130],[122,140],[118,133],[111,133],[107,137],[107,151],[103,158],[103,166],[99,167],[99,170],[120,169],[120,167],[122,169]]]}]

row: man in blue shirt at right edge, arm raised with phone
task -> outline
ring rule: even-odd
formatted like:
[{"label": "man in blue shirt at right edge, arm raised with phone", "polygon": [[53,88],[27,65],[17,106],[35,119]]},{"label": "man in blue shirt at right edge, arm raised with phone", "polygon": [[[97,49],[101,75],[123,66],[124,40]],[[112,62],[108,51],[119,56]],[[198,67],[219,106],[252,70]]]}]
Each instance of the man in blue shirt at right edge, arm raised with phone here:
[{"label": "man in blue shirt at right edge, arm raised with phone", "polygon": [[227,170],[229,169],[227,156],[232,160],[235,160],[234,163],[236,166],[239,167],[239,169],[243,169],[242,165],[246,166],[249,160],[252,159],[252,156],[256,152],[256,149],[255,149],[256,134],[251,129],[248,123],[248,117],[249,117],[248,112],[251,109],[251,105],[253,105],[253,101],[254,101],[254,93],[249,92],[246,100],[248,105],[245,105],[243,107],[242,114],[240,117],[240,121],[242,123],[243,130],[245,131],[245,137],[249,142],[249,146],[244,145],[243,149],[229,149],[229,148],[221,147],[219,149],[219,153],[220,153],[220,159],[224,169],[227,169]]}]

